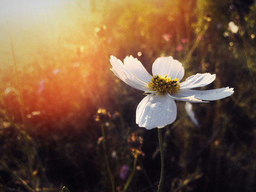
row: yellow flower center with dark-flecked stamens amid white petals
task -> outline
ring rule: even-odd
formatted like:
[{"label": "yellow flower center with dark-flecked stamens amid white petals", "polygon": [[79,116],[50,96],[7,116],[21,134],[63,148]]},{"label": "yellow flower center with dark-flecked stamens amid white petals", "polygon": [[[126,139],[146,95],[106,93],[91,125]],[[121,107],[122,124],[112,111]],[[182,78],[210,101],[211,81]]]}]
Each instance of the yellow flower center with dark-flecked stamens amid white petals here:
[{"label": "yellow flower center with dark-flecked stamens amid white petals", "polygon": [[151,78],[151,82],[148,83],[150,87],[150,91],[157,91],[158,94],[166,94],[166,93],[178,93],[180,91],[179,79],[171,79],[165,75],[162,77],[161,75],[154,75]]}]

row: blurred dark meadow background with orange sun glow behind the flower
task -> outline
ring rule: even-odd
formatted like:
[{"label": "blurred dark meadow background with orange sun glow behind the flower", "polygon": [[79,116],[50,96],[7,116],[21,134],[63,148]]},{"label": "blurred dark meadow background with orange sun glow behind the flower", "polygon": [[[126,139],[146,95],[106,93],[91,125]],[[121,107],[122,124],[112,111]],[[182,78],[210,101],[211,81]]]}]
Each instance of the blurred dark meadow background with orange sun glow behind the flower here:
[{"label": "blurred dark meadow background with orange sun glow behind the flower", "polygon": [[[177,103],[162,129],[163,191],[256,191],[256,3],[253,0],[0,2],[0,191],[156,191],[157,129],[135,123],[145,95],[109,70],[138,58],[151,74],[173,56],[185,78],[231,97]],[[102,138],[105,130],[105,140]],[[106,141],[106,150],[102,141]],[[106,152],[109,166],[106,164]]]}]

